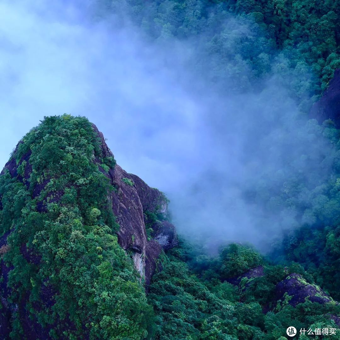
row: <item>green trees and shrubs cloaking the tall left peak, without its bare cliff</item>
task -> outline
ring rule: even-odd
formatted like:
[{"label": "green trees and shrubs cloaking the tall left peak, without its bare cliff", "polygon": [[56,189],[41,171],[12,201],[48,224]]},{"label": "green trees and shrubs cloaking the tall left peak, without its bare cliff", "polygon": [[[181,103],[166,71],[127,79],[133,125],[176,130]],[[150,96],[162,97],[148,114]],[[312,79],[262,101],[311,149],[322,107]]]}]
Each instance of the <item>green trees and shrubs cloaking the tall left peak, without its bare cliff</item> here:
[{"label": "green trees and shrubs cloaking the tall left peak, without its bare cliff", "polygon": [[[144,338],[152,308],[117,242],[113,188],[94,162],[112,167],[114,159],[102,158],[91,123],[46,117],[12,157],[18,176],[8,169],[0,176],[1,235],[9,248],[2,261],[10,269],[6,277],[2,267],[1,296],[26,313],[14,310],[11,338],[25,338],[28,323],[59,339]],[[1,307],[5,312],[4,301]]]}]

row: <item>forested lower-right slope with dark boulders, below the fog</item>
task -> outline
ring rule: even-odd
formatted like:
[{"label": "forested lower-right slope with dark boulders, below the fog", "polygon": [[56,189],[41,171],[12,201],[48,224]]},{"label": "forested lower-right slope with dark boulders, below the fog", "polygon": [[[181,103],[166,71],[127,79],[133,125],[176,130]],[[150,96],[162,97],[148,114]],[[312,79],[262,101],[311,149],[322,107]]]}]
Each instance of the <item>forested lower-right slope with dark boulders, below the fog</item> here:
[{"label": "forested lower-right slope with dark boulders, below the fog", "polygon": [[[155,274],[148,300],[157,340],[284,340],[287,327],[331,329],[339,339],[340,306],[297,263],[273,265],[230,244],[219,258],[180,243]],[[320,337],[316,337],[320,339]]]}]

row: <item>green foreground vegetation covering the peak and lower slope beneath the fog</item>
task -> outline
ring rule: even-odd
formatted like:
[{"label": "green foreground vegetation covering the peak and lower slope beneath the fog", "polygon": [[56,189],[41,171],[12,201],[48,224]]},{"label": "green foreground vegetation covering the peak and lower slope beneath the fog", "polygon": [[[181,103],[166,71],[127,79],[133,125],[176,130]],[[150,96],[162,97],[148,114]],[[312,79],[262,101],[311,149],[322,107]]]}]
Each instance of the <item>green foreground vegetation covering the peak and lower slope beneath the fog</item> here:
[{"label": "green foreground vegetation covering the peak and lower slope beneath the fog", "polygon": [[[83,117],[46,117],[19,142],[0,176],[1,339],[275,340],[288,325],[337,328],[338,303],[303,267],[242,245],[210,258],[182,241],[144,286],[134,246],[117,239],[115,167]],[[144,215],[149,238],[162,218]]]}]

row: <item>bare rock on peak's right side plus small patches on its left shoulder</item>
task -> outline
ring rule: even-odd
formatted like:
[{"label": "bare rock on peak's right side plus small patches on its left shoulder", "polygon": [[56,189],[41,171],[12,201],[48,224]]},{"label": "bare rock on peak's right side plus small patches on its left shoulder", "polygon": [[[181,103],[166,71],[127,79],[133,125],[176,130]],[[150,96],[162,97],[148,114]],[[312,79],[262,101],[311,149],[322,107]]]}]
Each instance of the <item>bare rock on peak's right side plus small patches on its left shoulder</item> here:
[{"label": "bare rock on peak's right side plus small patches on its left shoulder", "polygon": [[[102,157],[114,157],[108,148],[103,134],[98,130],[97,126],[92,124],[96,135],[100,139],[100,147],[102,149]],[[17,153],[18,143],[14,155]],[[30,165],[31,151],[25,153],[19,161],[15,157],[6,163],[1,174],[7,169],[12,177],[17,177],[23,183],[28,184],[32,172]],[[118,231],[118,242],[125,251],[132,252],[135,268],[148,285],[152,274],[156,270],[161,269],[161,263],[158,259],[162,248],[170,249],[177,244],[176,230],[173,224],[167,221],[168,218],[168,202],[163,192],[150,188],[138,176],[129,174],[124,171],[118,164],[113,168],[105,171],[101,162],[95,158],[99,170],[107,176],[114,190],[111,192],[112,210],[117,217],[120,226]],[[18,167],[24,162],[23,176],[18,174]],[[33,189],[33,197],[38,197],[40,192],[50,181],[38,184]],[[53,200],[59,201],[62,191],[53,193]],[[38,202],[37,209],[44,211],[43,202]],[[160,216],[160,220],[153,222],[153,239],[148,237],[145,227],[145,212],[152,212]],[[2,244],[6,244],[2,237]]]}]

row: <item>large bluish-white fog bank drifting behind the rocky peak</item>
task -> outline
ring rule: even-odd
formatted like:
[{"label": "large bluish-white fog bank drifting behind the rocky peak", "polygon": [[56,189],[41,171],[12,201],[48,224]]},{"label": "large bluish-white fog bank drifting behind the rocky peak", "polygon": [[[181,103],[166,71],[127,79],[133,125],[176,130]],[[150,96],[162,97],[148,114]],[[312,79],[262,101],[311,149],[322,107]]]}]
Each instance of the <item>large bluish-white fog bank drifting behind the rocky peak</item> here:
[{"label": "large bluish-white fog bank drifting behind the rocky peak", "polygon": [[[239,78],[225,70],[223,82],[212,82],[219,70],[202,37],[151,41],[128,18],[121,26],[85,3],[0,3],[2,166],[44,116],[86,116],[122,168],[168,195],[184,237],[209,250],[228,241],[266,250],[298,227],[300,212],[271,202],[268,191],[287,190],[296,174],[317,187],[331,150],[277,74],[284,61],[278,56],[256,91],[232,91],[250,72],[246,63]],[[235,36],[253,33],[228,20],[233,51]],[[270,188],[263,197],[261,187]]]}]

